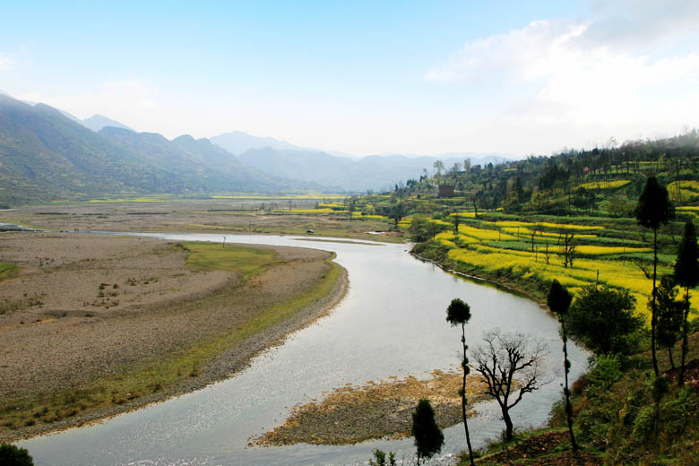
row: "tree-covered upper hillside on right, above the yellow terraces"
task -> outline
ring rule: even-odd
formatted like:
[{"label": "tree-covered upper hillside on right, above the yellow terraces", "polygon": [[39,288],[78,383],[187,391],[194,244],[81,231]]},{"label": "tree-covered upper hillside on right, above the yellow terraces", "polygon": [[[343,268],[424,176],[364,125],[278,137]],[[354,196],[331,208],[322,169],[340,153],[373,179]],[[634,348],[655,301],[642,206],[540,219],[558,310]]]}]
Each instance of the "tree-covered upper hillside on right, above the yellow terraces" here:
[{"label": "tree-covered upper hillside on right, above the yellow terraces", "polygon": [[[537,212],[554,215],[629,216],[645,178],[668,186],[677,204],[699,202],[699,135],[696,130],[656,141],[625,142],[618,147],[565,151],[499,165],[438,166],[434,177],[394,186],[393,199],[408,202],[453,186],[449,205],[480,211]],[[406,206],[410,211],[410,206]]]}]

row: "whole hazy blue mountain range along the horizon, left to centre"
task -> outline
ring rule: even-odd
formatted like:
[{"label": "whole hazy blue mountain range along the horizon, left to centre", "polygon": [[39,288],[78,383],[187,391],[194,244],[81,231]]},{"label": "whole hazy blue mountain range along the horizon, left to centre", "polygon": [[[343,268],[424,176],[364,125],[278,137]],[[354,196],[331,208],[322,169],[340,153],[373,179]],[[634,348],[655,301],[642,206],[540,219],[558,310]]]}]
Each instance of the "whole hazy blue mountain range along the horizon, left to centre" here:
[{"label": "whole hazy blue mountain range along the horizon, left to centre", "polygon": [[[442,157],[445,168],[499,163],[497,154]],[[44,104],[0,94],[0,203],[86,199],[103,194],[280,194],[302,190],[383,190],[437,157],[400,154],[355,158],[274,138],[232,132],[171,141],[136,133],[107,116],[81,120]]]}]

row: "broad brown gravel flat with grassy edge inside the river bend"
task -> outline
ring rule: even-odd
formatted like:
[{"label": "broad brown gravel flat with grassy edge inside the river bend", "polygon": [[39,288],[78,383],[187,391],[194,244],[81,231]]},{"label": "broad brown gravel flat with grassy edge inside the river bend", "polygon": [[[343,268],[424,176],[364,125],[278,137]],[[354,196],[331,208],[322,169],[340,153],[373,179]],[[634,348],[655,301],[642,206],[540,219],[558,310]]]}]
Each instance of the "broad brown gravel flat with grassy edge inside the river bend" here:
[{"label": "broad brown gravel flat with grassy edge inside the river bend", "polygon": [[[339,301],[343,271],[313,295],[337,267],[329,253],[273,250],[273,263],[243,280],[236,272],[196,272],[186,265],[186,247],[157,239],[0,234],[0,262],[20,267],[0,281],[0,440],[194,390],[244,367]],[[312,302],[298,301],[306,295]],[[294,299],[301,308],[287,306]],[[286,313],[280,322],[269,320],[275,308]],[[182,366],[177,375],[124,383],[122,375],[151,374],[173,358]]]}]

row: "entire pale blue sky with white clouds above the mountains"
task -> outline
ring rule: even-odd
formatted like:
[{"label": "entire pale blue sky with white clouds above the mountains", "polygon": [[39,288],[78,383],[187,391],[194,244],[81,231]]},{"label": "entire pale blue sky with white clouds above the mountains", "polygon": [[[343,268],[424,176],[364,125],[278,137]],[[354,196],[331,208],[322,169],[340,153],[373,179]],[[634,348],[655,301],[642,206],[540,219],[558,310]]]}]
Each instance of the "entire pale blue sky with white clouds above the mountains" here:
[{"label": "entire pale blue sky with white clouds above the mountains", "polygon": [[0,12],[1,91],[170,139],[240,130],[356,155],[525,156],[699,126],[696,0]]}]

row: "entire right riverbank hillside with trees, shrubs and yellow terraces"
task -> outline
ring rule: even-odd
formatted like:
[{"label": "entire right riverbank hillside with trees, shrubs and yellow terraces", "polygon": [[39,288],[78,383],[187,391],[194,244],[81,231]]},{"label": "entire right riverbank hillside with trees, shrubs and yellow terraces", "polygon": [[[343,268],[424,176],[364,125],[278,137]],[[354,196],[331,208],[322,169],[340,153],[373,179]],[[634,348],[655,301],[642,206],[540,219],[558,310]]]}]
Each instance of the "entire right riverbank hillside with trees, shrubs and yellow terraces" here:
[{"label": "entire right riverbank hillside with trees, shrubs and yellow terraces", "polygon": [[[413,254],[445,269],[541,303],[554,282],[574,297],[552,310],[595,351],[588,373],[565,388],[550,427],[494,441],[478,463],[699,462],[698,162],[693,131],[485,169],[436,164],[434,177],[354,201],[392,215]],[[455,194],[440,197],[440,185]]]}]

